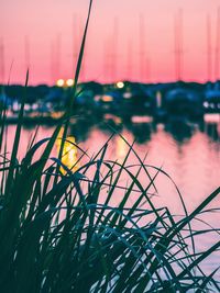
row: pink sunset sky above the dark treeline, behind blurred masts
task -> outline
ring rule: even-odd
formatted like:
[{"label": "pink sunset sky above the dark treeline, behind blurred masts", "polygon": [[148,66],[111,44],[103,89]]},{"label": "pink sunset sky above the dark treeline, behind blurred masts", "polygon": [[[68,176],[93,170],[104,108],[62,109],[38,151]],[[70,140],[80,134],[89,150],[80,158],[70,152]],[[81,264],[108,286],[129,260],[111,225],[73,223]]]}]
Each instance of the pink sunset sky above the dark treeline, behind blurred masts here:
[{"label": "pink sunset sky above the dark treeline, behind blurred masts", "polygon": [[[89,0],[1,0],[0,81],[3,75],[8,81],[12,63],[10,83],[24,83],[28,65],[32,84],[72,78],[73,53],[79,45],[76,36],[79,40],[82,33],[88,4]],[[175,80],[174,15],[182,8],[183,79],[207,80],[207,15],[213,67],[218,7],[220,0],[95,0],[81,79]],[[140,19],[144,23],[142,57]],[[212,70],[212,79],[216,78]]]}]

